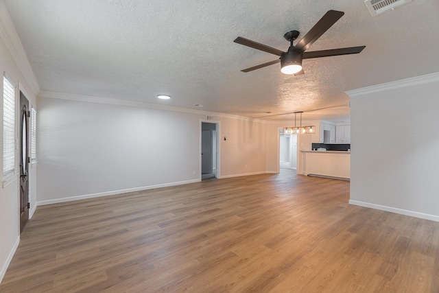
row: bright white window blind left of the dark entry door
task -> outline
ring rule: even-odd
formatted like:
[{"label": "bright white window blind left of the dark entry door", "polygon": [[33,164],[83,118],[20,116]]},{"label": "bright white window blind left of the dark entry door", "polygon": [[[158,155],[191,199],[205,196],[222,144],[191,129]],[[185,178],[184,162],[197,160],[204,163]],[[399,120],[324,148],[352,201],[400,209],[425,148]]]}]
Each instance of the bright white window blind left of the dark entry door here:
[{"label": "bright white window blind left of the dark entry door", "polygon": [[3,75],[3,178],[15,173],[15,84]]}]

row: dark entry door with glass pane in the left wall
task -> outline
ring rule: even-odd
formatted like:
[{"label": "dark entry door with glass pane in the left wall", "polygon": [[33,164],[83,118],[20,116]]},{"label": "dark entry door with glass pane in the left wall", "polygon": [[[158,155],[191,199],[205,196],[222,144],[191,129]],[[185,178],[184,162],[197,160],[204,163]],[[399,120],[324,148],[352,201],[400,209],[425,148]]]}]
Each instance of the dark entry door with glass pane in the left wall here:
[{"label": "dark entry door with glass pane in the left wall", "polygon": [[23,231],[29,219],[29,102],[23,93],[20,92],[20,232]]}]

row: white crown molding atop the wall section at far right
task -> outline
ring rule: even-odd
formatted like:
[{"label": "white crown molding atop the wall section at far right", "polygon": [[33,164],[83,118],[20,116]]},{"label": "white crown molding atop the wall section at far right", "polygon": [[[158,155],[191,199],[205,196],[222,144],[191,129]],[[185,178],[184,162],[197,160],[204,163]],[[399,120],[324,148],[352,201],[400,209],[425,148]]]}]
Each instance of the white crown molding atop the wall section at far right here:
[{"label": "white crown molding atop the wall section at far right", "polygon": [[377,84],[375,86],[367,86],[361,89],[346,91],[349,97],[357,97],[360,95],[367,95],[369,93],[378,93],[381,91],[389,91],[392,89],[401,89],[407,86],[416,86],[418,84],[427,84],[430,82],[439,81],[439,72],[427,75],[420,75],[415,78],[406,78],[405,80],[396,80],[395,82],[387,82],[385,84]]}]

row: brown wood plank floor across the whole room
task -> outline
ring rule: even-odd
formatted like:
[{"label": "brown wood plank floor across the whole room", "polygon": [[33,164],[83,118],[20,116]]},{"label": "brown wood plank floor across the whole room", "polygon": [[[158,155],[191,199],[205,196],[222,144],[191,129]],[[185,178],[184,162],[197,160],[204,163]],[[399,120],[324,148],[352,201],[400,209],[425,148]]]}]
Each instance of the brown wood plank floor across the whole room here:
[{"label": "brown wood plank floor across the whole room", "polygon": [[0,292],[439,292],[439,223],[348,198],[283,169],[38,207]]}]

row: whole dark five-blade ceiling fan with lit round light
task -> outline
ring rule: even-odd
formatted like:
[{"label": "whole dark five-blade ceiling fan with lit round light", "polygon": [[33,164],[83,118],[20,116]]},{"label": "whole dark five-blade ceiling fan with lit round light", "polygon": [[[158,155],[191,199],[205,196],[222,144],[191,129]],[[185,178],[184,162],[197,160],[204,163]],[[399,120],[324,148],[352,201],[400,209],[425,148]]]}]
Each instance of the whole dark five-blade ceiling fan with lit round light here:
[{"label": "whole dark five-blade ceiling fan with lit round light", "polygon": [[285,74],[294,74],[300,75],[303,74],[302,70],[302,59],[310,59],[310,58],[320,58],[320,57],[328,57],[328,56],[338,56],[338,55],[347,55],[347,54],[358,54],[361,52],[366,46],[359,47],[347,47],[340,49],[329,49],[329,50],[321,50],[321,51],[310,51],[306,52],[306,50],[318,39],[324,32],[326,32],[329,27],[331,27],[335,22],[337,22],[342,16],[344,12],[329,10],[324,16],[314,25],[311,30],[296,44],[293,45],[293,41],[299,36],[299,32],[296,30],[292,30],[287,32],[283,37],[291,43],[290,47],[286,52],[275,49],[273,47],[269,47],[267,45],[263,45],[261,43],[254,42],[253,40],[248,40],[247,38],[242,38],[241,36],[237,37],[234,42],[252,47],[254,49],[258,49],[261,51],[265,51],[281,58],[278,58],[274,61],[266,62],[254,67],[250,67],[247,69],[241,70],[242,72],[253,71],[255,69],[259,69],[262,67],[266,67],[268,65],[273,65],[278,62],[281,62],[281,71]]}]

